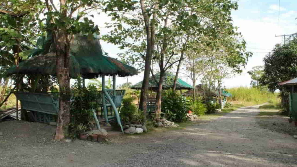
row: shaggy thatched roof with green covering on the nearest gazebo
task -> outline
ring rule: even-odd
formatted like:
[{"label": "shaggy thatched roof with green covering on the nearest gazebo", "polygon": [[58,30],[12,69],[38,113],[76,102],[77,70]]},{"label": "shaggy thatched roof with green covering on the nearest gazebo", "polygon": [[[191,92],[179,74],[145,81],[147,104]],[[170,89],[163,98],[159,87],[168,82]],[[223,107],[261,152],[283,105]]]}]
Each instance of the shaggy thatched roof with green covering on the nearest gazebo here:
[{"label": "shaggy thatched roof with green covering on the nearest gazebo", "polygon": [[[56,75],[56,53],[50,52],[19,63],[19,74]],[[75,36],[70,45],[70,77],[96,78],[98,75],[136,75],[137,70],[117,59],[104,56],[98,39]],[[7,70],[6,75],[17,73],[16,66]]]}]

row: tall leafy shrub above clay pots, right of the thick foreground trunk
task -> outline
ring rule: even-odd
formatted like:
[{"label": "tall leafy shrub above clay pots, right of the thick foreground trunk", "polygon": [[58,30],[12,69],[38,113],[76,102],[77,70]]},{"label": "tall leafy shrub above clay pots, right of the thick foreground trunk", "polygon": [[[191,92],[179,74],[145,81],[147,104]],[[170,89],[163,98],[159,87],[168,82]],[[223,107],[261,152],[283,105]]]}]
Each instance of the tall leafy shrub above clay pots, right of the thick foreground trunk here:
[{"label": "tall leafy shrub above clay pots, right of the thick foreground trunk", "polygon": [[93,123],[93,109],[98,108],[97,99],[100,94],[95,86],[84,88],[81,79],[71,88],[70,124],[69,132],[72,138],[79,133],[90,130]]}]

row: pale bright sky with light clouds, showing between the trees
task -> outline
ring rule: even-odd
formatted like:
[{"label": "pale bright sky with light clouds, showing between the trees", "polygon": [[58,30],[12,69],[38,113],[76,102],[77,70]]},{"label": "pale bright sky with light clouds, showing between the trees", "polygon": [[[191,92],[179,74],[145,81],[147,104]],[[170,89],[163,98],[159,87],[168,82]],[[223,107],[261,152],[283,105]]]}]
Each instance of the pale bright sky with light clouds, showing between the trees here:
[{"label": "pale bright sky with light clouds, showing between the trees", "polygon": [[[264,65],[263,58],[267,55],[275,44],[283,43],[283,37],[275,35],[293,34],[297,30],[297,1],[296,0],[239,0],[238,10],[232,11],[233,25],[238,27],[244,40],[247,42],[247,51],[253,53],[249,58],[243,73],[223,79],[222,86],[226,88],[249,86],[251,78],[247,71],[252,67]],[[280,5],[279,5],[280,2]],[[108,33],[105,22],[110,22],[110,18],[104,13],[94,17],[93,21],[99,26],[100,33]],[[100,41],[102,48],[109,56],[117,58],[117,53],[123,52],[117,46]],[[191,80],[183,74],[179,78],[192,85]],[[133,84],[142,81],[143,73],[132,77],[117,77],[117,85],[132,82]],[[200,83],[200,79],[196,81]]]}]

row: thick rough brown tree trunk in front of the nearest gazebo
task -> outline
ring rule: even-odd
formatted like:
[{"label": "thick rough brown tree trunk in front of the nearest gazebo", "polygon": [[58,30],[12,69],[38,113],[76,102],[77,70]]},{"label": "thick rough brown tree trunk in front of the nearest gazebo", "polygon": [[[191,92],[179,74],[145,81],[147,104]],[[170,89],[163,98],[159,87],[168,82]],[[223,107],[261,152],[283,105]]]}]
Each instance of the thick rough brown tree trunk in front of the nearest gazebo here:
[{"label": "thick rough brown tree trunk in front of the nearest gazebo", "polygon": [[63,30],[56,33],[56,74],[60,88],[60,107],[55,139],[61,140],[68,136],[70,122],[70,41],[68,35]]}]

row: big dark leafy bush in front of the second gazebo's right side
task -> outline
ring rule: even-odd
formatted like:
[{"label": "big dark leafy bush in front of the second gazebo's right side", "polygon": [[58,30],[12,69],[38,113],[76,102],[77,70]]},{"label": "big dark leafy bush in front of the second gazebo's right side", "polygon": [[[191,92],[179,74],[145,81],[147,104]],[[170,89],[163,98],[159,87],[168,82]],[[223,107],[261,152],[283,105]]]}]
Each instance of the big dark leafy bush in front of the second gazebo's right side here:
[{"label": "big dark leafy bush in front of the second gazebo's right side", "polygon": [[190,102],[185,97],[180,96],[173,90],[166,90],[162,95],[163,116],[173,122],[187,121],[187,111]]}]

